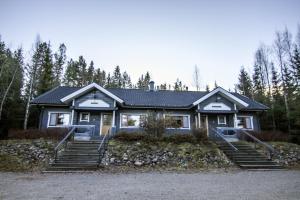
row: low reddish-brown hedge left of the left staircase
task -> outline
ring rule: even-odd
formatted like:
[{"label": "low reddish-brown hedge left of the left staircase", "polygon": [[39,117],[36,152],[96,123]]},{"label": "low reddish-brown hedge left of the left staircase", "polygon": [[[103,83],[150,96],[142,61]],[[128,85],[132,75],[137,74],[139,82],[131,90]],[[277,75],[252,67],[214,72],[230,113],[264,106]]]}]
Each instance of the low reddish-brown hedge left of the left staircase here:
[{"label": "low reddish-brown hedge left of the left staircase", "polygon": [[8,139],[52,139],[62,140],[68,133],[67,128],[10,130]]}]

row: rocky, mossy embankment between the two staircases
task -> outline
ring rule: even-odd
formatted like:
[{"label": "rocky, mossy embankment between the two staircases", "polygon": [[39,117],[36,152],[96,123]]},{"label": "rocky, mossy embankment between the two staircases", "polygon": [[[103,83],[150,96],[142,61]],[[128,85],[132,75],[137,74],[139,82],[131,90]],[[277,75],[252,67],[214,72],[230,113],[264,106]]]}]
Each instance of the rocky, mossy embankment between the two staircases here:
[{"label": "rocky, mossy embankment between the two staircases", "polygon": [[216,145],[167,142],[125,142],[111,140],[104,166],[166,169],[228,168],[232,162]]}]

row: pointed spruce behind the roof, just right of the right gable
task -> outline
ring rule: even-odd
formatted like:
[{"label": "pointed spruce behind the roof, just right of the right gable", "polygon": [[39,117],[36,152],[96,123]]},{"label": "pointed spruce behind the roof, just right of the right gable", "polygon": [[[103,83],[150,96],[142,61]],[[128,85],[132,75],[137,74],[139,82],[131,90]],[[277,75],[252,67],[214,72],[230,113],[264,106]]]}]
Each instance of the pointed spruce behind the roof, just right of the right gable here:
[{"label": "pointed spruce behind the roof, just right of the right gable", "polygon": [[239,74],[239,83],[237,84],[239,93],[252,98],[252,81],[250,75],[246,72],[244,67],[241,67]]}]

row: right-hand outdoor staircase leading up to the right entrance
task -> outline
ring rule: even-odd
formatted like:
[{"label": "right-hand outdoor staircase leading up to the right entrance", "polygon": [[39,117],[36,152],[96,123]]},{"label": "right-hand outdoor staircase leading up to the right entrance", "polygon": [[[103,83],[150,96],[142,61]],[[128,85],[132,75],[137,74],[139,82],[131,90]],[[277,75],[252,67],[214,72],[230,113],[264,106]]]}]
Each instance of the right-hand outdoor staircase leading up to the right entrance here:
[{"label": "right-hand outdoor staircase leading up to the right entrance", "polygon": [[242,169],[249,170],[279,170],[283,169],[283,166],[268,159],[262,155],[249,144],[242,142],[231,142],[231,144],[237,148],[233,149],[230,145],[224,142],[219,142],[219,148],[225,153],[225,155],[236,163]]}]

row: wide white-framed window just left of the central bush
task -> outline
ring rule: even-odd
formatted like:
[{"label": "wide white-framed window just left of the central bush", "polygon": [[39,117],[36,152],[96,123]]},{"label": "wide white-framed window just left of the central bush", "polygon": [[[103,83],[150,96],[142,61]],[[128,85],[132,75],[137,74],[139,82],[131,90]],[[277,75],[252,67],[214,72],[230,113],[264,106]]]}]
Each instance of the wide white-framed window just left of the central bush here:
[{"label": "wide white-framed window just left of the central bush", "polygon": [[145,114],[121,114],[121,128],[143,127],[145,120]]}]

